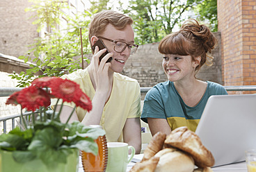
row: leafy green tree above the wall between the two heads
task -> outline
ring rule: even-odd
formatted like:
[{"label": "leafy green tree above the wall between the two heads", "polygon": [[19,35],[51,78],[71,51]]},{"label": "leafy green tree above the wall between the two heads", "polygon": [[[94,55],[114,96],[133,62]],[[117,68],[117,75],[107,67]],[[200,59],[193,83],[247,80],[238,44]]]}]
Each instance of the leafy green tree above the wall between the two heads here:
[{"label": "leafy green tree above the wall between the two heads", "polygon": [[[188,16],[200,0],[129,0],[129,7],[121,9],[134,19],[138,44],[159,42]],[[122,3],[120,3],[122,5]]]}]

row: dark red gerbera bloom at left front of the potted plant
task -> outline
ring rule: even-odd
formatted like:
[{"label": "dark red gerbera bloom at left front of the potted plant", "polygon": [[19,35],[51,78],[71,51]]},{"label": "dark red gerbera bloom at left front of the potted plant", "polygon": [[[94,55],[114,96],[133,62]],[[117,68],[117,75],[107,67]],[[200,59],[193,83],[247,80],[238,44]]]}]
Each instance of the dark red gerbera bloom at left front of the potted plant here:
[{"label": "dark red gerbera bloom at left front of the potted plant", "polygon": [[51,99],[45,90],[32,85],[19,92],[17,102],[22,105],[22,109],[35,111],[41,106],[47,107],[51,104]]}]

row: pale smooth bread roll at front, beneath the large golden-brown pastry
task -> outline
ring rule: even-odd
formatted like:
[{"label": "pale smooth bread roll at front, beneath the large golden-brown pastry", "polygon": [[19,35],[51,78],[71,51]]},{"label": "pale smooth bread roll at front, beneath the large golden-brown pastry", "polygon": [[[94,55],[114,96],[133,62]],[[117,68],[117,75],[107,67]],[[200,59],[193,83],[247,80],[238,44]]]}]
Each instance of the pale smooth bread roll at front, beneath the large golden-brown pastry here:
[{"label": "pale smooth bread roll at front, beneath the large golden-brown pastry", "polygon": [[191,155],[177,148],[164,148],[154,157],[160,157],[154,172],[193,172],[195,167]]}]

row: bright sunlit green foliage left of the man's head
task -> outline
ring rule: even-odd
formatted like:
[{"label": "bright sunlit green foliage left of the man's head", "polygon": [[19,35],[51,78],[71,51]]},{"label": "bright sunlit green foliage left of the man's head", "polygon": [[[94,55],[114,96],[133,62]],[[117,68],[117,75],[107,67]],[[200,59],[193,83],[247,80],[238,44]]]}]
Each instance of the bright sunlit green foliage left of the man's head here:
[{"label": "bright sunlit green foliage left of the man's head", "polygon": [[[95,3],[95,6],[90,8],[91,12],[86,10],[70,17],[63,12],[69,8],[63,1],[32,0],[32,2],[34,5],[27,11],[36,11],[33,24],[38,24],[38,32],[45,26],[47,26],[47,31],[44,36],[36,38],[35,42],[30,45],[29,53],[19,56],[19,59],[23,59],[24,62],[30,61],[33,64],[30,65],[31,69],[26,69],[20,74],[14,72],[10,75],[18,80],[17,87],[30,85],[36,77],[62,76],[80,69],[81,58],[77,58],[77,60],[74,58],[81,57],[80,28],[82,28],[83,54],[91,53],[88,40],[90,19],[95,12],[106,9],[106,6],[98,9],[97,3]],[[61,18],[68,21],[67,26],[61,26]],[[88,58],[84,59],[86,62],[90,62]]]}]

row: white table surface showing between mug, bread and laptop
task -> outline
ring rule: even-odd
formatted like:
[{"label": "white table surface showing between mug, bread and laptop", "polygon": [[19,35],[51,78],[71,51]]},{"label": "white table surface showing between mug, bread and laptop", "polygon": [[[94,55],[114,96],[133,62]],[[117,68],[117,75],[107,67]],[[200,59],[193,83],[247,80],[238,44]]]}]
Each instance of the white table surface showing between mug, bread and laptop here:
[{"label": "white table surface showing between mug, bread and laptop", "polygon": [[[127,165],[127,172],[129,172],[130,169],[132,168],[132,166],[134,166],[134,164],[136,164],[136,162],[134,162],[134,161],[138,162],[138,161],[142,160],[142,158],[143,158],[143,154],[134,155],[133,160],[131,160],[131,162],[129,162],[129,164]],[[247,172],[246,162],[239,162],[239,163],[229,164],[229,165],[225,165],[225,166],[217,166],[217,167],[212,167],[211,169],[214,172],[232,172],[232,171]],[[79,171],[78,172],[84,172],[80,156],[79,156]]]}]

